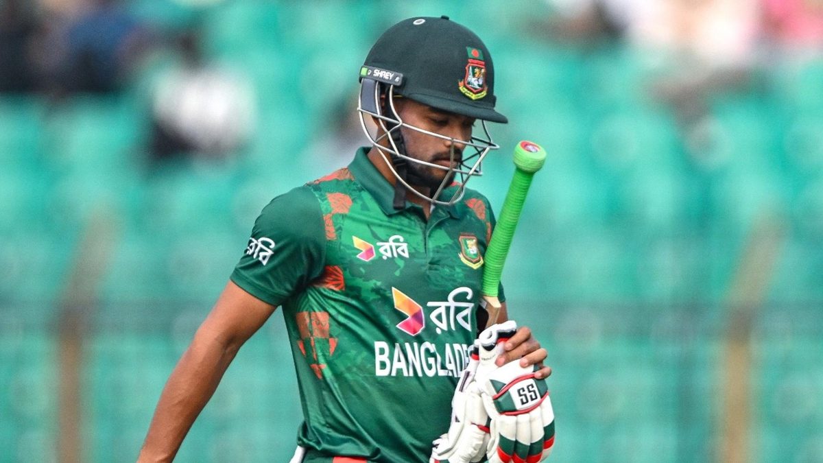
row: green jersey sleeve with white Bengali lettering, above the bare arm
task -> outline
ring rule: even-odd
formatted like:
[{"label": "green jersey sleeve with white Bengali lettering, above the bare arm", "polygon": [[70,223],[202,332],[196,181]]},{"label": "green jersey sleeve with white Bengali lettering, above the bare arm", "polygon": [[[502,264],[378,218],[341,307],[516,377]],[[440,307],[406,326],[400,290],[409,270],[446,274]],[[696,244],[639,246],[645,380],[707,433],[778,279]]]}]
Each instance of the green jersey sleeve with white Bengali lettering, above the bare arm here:
[{"label": "green jersey sleeve with white Bengali lettering, above the bare arm", "polygon": [[279,306],[323,271],[326,238],[314,193],[295,188],[263,208],[231,281]]}]

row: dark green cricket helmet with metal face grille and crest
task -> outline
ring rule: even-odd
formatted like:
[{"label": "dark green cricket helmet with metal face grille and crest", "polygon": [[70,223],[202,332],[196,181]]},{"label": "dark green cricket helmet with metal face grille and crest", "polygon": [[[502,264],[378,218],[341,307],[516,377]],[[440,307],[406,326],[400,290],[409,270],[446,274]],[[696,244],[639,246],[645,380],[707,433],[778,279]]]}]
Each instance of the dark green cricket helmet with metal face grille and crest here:
[{"label": "dark green cricket helmet with metal face grille and crest", "polygon": [[[360,122],[366,136],[378,148],[398,182],[394,204],[402,208],[406,189],[431,203],[450,205],[463,198],[467,180],[481,175],[481,162],[498,146],[492,142],[486,121],[506,123],[508,119],[495,110],[495,76],[491,54],[477,35],[450,21],[448,16],[414,17],[398,22],[375,42],[360,68]],[[481,122],[482,136],[457,140],[403,122],[394,108],[394,96],[403,96],[438,110],[472,117]],[[383,100],[384,98],[384,100]],[[378,120],[382,134],[371,134],[365,116]],[[436,138],[461,143],[473,153],[456,154],[459,164],[441,166],[407,156],[402,129],[415,130]],[[388,147],[380,144],[388,141]],[[391,162],[388,162],[388,157]],[[431,197],[420,194],[408,184],[407,163],[449,171]],[[452,180],[458,189],[449,199],[440,194]]]}]

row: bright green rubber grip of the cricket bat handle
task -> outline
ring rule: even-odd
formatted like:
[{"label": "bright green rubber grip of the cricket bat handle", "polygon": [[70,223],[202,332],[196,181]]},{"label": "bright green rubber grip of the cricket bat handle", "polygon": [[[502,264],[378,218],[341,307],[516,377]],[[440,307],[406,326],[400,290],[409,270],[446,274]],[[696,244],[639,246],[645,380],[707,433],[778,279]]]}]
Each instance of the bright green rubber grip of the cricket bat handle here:
[{"label": "bright green rubber grip of the cricket bat handle", "polygon": [[532,185],[534,173],[541,169],[545,161],[546,150],[536,143],[523,141],[514,148],[514,176],[484,257],[486,262],[483,269],[482,291],[485,296],[497,297],[503,264],[506,255],[509,254],[514,229],[520,219],[528,188]]}]

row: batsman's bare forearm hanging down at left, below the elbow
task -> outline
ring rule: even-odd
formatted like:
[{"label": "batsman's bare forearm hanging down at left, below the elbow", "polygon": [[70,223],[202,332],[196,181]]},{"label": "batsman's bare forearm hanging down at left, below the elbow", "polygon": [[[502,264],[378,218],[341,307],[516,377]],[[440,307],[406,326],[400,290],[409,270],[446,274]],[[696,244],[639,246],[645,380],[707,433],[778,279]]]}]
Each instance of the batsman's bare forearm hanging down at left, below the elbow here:
[{"label": "batsman's bare forearm hanging down at left, below the elbow", "polygon": [[157,403],[138,461],[172,461],[188,429],[220,384],[237,348],[198,333]]}]

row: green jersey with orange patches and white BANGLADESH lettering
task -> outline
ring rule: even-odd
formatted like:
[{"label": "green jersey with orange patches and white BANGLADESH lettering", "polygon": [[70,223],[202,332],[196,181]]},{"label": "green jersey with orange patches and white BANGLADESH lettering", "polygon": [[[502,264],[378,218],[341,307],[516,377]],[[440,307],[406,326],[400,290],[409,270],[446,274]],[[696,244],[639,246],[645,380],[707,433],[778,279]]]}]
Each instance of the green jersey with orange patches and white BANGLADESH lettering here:
[{"label": "green jersey with orange patches and white BANGLADESH lettering", "polygon": [[[451,197],[445,191],[443,197]],[[475,339],[488,200],[425,219],[357,152],[263,209],[231,280],[283,307],[311,456],[428,461]]]}]

